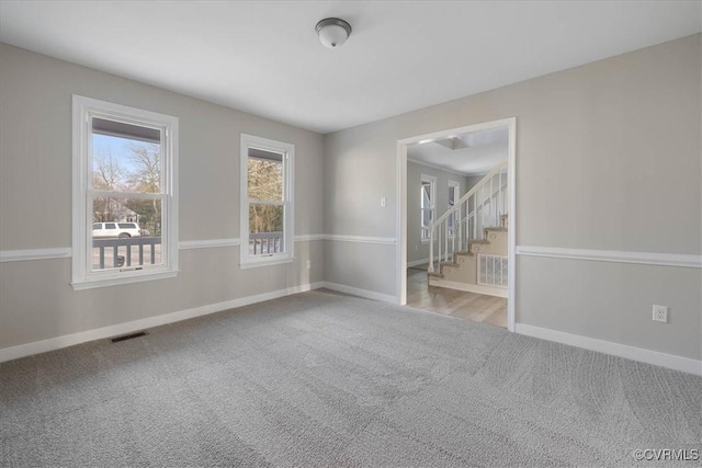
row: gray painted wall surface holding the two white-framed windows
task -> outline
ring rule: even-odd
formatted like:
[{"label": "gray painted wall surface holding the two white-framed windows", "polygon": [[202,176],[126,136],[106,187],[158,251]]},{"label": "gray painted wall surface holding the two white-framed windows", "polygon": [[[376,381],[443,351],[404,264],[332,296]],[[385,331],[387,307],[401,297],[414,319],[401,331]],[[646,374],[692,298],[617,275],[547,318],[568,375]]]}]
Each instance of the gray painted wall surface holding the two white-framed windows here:
[{"label": "gray painted wall surface holding the two white-framed windows", "polygon": [[[239,134],[295,145],[295,233],[322,232],[322,136],[0,44],[0,249],[71,244],[71,94],[180,118],[180,240],[239,237]],[[75,292],[70,259],[0,263],[0,347],[319,282],[324,241],[241,271],[181,250],[173,279]],[[307,270],[306,261],[313,267]]]}]

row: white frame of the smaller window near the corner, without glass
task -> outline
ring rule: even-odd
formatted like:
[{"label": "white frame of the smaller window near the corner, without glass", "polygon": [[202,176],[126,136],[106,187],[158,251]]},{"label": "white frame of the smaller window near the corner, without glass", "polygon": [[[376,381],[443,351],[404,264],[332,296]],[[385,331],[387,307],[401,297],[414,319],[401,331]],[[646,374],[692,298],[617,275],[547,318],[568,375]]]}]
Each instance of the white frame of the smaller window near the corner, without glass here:
[{"label": "white frame of the smaller window near the corner, without glass", "polygon": [[[241,134],[239,152],[239,267],[251,269],[257,266],[278,265],[291,263],[295,260],[294,232],[295,232],[295,145],[278,141],[256,135]],[[283,242],[284,252],[267,253],[265,255],[249,255],[249,205],[261,203],[256,198],[249,198],[248,163],[249,148],[256,148],[269,152],[282,155],[283,163]]]}]

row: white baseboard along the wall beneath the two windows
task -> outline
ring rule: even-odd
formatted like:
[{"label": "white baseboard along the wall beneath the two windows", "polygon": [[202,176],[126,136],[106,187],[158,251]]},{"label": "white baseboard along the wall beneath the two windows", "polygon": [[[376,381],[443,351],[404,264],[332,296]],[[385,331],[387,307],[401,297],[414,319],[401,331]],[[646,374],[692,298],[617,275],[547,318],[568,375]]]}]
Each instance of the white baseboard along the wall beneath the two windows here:
[{"label": "white baseboard along the wall beneath the two windows", "polygon": [[325,284],[321,282],[302,286],[294,286],[286,289],[273,290],[270,293],[258,294],[256,296],[240,297],[238,299],[225,300],[224,303],[210,304],[206,306],[194,307],[192,309],[179,310],[177,312],[149,317],[147,319],[135,320],[132,322],[118,323],[115,326],[103,327],[79,333],[66,334],[63,336],[52,338],[49,340],[35,341],[33,343],[4,347],[0,350],[0,363],[16,359],[19,357],[31,356],[33,354],[46,353],[47,351],[59,350],[61,347],[68,347],[75,344],[86,343],[88,341],[102,340],[105,338],[179,322],[181,320],[206,316],[208,313],[235,309],[237,307],[262,303],[264,300],[278,299],[280,297],[285,297],[297,293],[305,293],[312,289],[319,289],[321,287],[325,287]]}]

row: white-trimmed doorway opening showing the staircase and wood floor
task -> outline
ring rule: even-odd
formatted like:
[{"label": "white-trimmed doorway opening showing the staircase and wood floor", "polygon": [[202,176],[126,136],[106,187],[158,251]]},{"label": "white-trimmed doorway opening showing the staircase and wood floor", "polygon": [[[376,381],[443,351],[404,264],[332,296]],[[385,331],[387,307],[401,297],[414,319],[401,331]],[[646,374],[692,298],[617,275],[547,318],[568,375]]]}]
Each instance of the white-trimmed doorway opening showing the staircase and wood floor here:
[{"label": "white-trimmed doorway opening showing the staircase and wood floor", "polygon": [[514,330],[516,130],[510,117],[398,140],[398,304],[409,289],[410,305]]}]

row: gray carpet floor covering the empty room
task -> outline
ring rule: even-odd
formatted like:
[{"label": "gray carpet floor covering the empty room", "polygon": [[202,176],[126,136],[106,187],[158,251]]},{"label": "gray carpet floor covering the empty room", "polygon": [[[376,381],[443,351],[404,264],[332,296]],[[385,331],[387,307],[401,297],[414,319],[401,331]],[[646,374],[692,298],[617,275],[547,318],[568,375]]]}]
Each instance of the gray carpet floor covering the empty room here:
[{"label": "gray carpet floor covering the empty room", "polygon": [[[702,379],[317,290],[0,366],[2,466],[699,466]],[[702,450],[701,450],[702,453]]]}]

